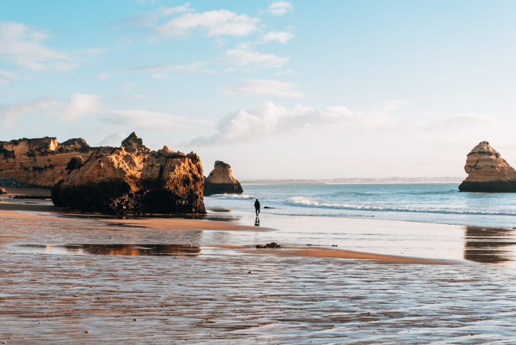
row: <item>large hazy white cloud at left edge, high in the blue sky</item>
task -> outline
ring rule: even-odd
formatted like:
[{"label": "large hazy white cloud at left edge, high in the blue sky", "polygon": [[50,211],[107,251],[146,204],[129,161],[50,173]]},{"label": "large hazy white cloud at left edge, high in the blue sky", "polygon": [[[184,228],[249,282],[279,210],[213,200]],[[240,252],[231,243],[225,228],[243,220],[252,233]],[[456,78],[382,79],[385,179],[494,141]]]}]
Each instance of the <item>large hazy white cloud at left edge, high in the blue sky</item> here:
[{"label": "large hazy white cloud at left edge, high in the blue sky", "polygon": [[0,58],[33,71],[69,71],[72,58],[42,44],[44,32],[13,22],[0,23]]}]

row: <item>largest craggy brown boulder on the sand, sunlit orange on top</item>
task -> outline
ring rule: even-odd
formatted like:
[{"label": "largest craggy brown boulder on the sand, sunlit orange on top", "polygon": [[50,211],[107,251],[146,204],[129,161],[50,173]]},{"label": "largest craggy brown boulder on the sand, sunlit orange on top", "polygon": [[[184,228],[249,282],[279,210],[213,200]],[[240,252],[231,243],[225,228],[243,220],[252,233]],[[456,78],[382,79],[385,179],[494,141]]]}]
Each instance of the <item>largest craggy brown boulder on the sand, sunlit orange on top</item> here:
[{"label": "largest craggy brown boulder on the sand, sunlit orange on top", "polygon": [[118,148],[69,160],[52,188],[55,206],[120,215],[205,213],[197,154],[151,151],[135,133]]}]

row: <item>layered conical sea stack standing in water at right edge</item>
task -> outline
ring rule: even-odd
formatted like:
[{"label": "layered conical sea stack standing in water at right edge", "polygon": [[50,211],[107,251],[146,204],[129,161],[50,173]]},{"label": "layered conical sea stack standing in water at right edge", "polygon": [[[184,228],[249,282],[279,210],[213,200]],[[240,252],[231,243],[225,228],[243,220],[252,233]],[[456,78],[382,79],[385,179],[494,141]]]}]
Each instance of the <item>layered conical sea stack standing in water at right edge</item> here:
[{"label": "layered conical sea stack standing in water at right edge", "polygon": [[464,170],[468,175],[459,185],[462,192],[516,192],[516,170],[488,142],[467,154]]}]

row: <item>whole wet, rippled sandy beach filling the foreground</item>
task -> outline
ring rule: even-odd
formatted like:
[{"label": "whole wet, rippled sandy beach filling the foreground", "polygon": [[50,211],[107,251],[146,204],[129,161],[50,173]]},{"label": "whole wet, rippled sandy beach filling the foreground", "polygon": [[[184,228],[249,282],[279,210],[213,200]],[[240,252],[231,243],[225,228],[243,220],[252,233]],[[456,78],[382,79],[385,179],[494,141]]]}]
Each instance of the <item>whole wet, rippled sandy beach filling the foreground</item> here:
[{"label": "whole wet, rippled sandy beach filling the foreground", "polygon": [[[511,342],[512,229],[0,202],[7,343]],[[277,242],[283,249],[257,249]]]}]

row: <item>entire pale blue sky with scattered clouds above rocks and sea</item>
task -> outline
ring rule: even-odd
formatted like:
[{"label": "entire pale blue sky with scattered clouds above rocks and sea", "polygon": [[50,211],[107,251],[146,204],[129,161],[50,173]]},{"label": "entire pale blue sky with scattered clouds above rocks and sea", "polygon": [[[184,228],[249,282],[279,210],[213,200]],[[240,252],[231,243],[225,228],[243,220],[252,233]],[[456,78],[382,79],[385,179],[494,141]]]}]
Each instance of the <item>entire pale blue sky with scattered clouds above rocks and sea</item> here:
[{"label": "entire pale blue sky with scattered clouds above rocks and sea", "polygon": [[237,179],[516,166],[512,0],[0,2],[0,140],[199,154]]}]

